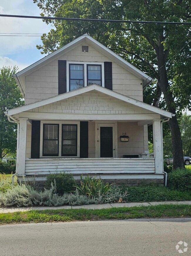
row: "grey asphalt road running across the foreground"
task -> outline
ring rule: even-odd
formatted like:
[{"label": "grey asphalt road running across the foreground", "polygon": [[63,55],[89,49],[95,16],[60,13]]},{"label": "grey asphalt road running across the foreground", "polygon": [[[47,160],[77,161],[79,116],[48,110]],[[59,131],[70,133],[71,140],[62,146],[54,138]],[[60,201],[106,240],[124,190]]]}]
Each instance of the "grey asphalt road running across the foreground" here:
[{"label": "grey asphalt road running across the foreground", "polygon": [[[191,219],[91,221],[0,226],[1,256],[191,255]],[[180,245],[179,250],[185,247]]]}]

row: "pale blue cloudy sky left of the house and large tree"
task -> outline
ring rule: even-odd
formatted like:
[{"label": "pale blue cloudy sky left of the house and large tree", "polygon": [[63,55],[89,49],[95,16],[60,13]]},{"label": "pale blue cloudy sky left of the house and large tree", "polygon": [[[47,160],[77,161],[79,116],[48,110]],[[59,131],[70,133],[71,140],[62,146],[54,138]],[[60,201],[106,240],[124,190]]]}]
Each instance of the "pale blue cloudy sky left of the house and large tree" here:
[{"label": "pale blue cloudy sky left of the house and large tree", "polygon": [[[0,0],[1,14],[40,16],[41,10],[32,0]],[[2,33],[47,33],[51,26],[41,19],[0,17],[0,68],[17,65],[19,70],[43,58],[37,44],[41,37],[2,36]]]}]

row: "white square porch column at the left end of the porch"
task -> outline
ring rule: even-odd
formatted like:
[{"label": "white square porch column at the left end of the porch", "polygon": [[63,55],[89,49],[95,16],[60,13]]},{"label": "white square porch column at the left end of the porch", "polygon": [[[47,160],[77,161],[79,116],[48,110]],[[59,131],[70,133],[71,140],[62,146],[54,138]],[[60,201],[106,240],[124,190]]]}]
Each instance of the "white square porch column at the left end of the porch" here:
[{"label": "white square porch column at the left end of the porch", "polygon": [[19,120],[18,176],[25,176],[27,118]]}]

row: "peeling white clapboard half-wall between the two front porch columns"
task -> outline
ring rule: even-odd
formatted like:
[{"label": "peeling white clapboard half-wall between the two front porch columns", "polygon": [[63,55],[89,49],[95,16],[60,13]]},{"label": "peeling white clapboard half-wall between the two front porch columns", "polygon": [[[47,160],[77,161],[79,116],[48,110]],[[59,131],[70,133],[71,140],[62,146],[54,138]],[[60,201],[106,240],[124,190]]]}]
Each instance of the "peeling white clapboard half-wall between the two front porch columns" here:
[{"label": "peeling white clapboard half-wall between the two front porch columns", "polygon": [[26,159],[26,175],[56,172],[73,174],[155,173],[155,159],[147,158],[63,158]]}]

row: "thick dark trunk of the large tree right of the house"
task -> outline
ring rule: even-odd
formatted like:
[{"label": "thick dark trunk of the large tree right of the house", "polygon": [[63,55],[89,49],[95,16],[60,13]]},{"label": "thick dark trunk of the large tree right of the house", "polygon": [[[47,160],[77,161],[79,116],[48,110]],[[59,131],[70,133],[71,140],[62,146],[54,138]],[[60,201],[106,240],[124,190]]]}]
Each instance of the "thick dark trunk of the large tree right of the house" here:
[{"label": "thick dark trunk of the large tree right of the house", "polygon": [[[170,91],[168,83],[167,71],[165,68],[166,57],[162,44],[159,45],[156,53],[158,55],[158,72],[160,75],[158,86],[164,94],[167,110],[173,114],[176,114],[176,104],[172,97],[172,92]],[[169,120],[169,126],[172,133],[173,169],[177,169],[178,167],[182,168],[184,167],[182,139],[176,116]]]}]

